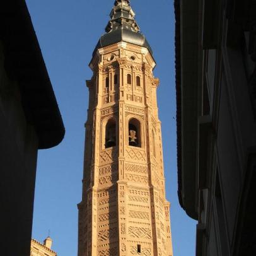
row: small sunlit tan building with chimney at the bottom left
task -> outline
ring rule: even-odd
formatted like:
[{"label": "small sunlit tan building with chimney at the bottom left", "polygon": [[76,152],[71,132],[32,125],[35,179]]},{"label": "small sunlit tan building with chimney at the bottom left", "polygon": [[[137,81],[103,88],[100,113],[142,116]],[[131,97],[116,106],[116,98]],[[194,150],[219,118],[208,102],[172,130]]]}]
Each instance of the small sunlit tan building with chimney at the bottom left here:
[{"label": "small sunlit tan building with chimney at the bottom left", "polygon": [[49,236],[44,240],[44,243],[32,239],[30,247],[30,256],[57,256],[52,249],[52,238]]}]

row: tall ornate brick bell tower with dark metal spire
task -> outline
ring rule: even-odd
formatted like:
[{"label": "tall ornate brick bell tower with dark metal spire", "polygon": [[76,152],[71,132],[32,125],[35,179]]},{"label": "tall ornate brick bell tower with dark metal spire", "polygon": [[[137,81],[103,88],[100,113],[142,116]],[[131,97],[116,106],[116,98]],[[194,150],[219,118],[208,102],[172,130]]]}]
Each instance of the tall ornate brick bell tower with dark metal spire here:
[{"label": "tall ornate brick bell tower with dark metal spire", "polygon": [[116,0],[90,62],[78,256],[173,256],[154,78],[129,0]]}]

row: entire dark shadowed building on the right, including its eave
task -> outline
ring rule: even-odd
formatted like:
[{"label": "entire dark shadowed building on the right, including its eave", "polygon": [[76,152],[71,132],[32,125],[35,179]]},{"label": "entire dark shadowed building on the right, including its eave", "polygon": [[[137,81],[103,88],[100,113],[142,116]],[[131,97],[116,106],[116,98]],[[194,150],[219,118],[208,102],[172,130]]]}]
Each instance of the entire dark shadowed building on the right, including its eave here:
[{"label": "entire dark shadowed building on the right, including its eave", "polygon": [[178,196],[196,255],[256,255],[256,2],[175,0]]}]

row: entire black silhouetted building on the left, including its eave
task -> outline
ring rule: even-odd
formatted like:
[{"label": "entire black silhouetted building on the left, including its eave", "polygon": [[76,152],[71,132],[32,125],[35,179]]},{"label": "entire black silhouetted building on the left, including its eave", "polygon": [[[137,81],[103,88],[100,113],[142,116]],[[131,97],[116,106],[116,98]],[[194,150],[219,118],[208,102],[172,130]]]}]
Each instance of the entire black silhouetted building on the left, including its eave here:
[{"label": "entire black silhouetted building on the left, including its eave", "polygon": [[1,1],[0,34],[1,254],[29,255],[37,152],[65,131],[25,0]]}]

